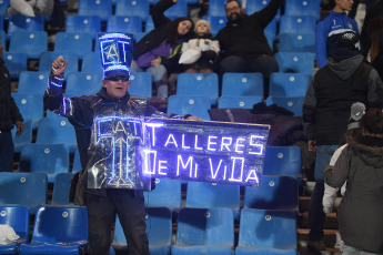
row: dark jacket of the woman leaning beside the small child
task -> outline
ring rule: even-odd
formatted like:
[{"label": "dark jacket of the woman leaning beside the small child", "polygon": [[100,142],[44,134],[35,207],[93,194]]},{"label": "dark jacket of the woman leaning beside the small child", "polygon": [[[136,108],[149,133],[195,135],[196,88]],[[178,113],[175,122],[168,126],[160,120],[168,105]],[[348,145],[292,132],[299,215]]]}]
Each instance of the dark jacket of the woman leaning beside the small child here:
[{"label": "dark jacket of the woman leaning beside the small child", "polygon": [[[159,47],[161,43],[167,40],[167,30],[171,23],[171,20],[167,18],[163,12],[170,7],[174,6],[173,0],[161,0],[153,7],[151,16],[154,23],[154,29],[144,35],[139,42],[133,47],[133,59],[137,60],[141,54],[151,51]],[[188,41],[188,35],[183,38],[184,41]],[[179,72],[179,61],[180,59],[180,47],[175,54],[170,55],[169,58],[161,58],[161,64],[163,64],[168,73]]]}]

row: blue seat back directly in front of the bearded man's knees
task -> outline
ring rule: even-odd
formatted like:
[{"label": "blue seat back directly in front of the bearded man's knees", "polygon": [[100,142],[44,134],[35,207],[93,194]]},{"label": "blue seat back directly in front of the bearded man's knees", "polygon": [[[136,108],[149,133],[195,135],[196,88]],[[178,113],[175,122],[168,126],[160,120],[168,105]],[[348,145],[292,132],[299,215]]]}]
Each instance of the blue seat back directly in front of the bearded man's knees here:
[{"label": "blue seat back directly in front of the bearded man's knees", "polygon": [[224,73],[222,95],[256,95],[263,98],[262,73]]}]

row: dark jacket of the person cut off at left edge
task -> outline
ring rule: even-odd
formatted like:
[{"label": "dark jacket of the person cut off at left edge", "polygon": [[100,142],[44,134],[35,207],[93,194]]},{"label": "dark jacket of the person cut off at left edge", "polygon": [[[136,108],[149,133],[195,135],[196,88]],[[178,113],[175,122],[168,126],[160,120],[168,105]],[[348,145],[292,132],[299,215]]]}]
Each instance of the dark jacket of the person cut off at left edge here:
[{"label": "dark jacket of the person cut off at left edge", "polygon": [[11,131],[17,121],[23,121],[11,96],[11,80],[4,61],[0,60],[0,131]]}]

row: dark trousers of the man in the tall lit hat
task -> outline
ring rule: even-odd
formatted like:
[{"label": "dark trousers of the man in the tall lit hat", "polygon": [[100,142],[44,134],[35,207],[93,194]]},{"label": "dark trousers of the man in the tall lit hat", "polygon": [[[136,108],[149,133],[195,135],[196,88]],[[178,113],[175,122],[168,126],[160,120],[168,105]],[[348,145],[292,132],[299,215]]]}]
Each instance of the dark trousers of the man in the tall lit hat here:
[{"label": "dark trousers of the man in the tall lit hat", "polygon": [[91,255],[108,255],[115,214],[127,237],[129,255],[149,255],[143,195],[131,190],[108,190],[107,196],[87,193]]}]

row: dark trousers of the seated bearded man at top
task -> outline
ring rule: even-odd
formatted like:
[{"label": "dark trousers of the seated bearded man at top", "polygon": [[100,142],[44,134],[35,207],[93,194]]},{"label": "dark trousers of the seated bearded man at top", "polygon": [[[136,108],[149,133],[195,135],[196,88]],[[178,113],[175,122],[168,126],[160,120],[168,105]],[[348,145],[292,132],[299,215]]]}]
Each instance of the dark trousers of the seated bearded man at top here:
[{"label": "dark trousers of the seated bearded man at top", "polygon": [[263,74],[264,98],[269,95],[270,75],[278,72],[278,62],[272,55],[260,55],[258,58],[243,58],[240,55],[229,55],[220,62],[220,74],[226,72],[249,73],[260,72]]}]

